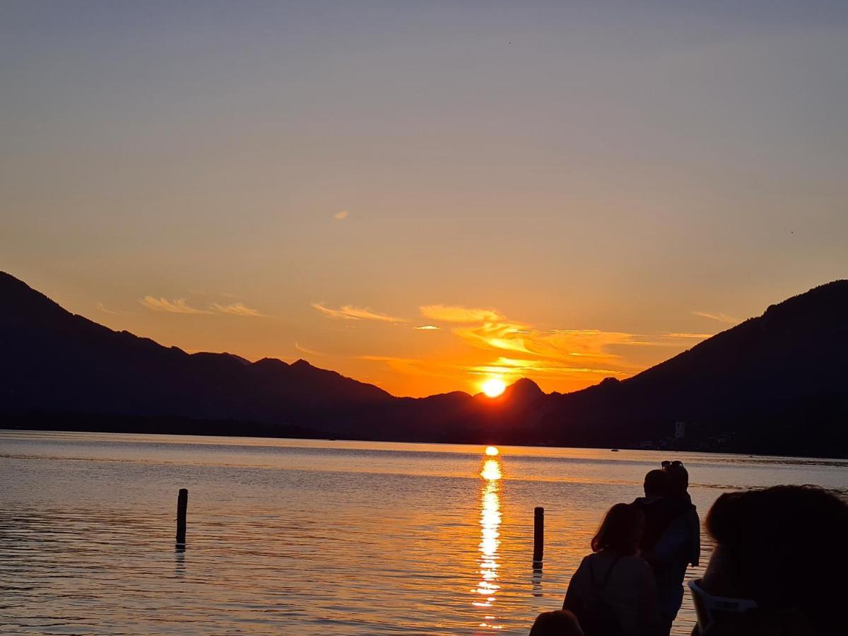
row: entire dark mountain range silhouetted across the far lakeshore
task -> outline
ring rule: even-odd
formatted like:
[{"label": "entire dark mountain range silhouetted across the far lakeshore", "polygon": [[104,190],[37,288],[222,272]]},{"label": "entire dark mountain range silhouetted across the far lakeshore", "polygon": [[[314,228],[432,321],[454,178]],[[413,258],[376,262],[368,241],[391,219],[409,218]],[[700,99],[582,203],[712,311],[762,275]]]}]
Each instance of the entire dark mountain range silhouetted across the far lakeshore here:
[{"label": "entire dark mountain range silhouetted across the far lakeshore", "polygon": [[[621,382],[395,398],[305,360],[187,354],[0,272],[0,427],[848,454],[848,281]],[[673,439],[685,422],[685,437]]]}]

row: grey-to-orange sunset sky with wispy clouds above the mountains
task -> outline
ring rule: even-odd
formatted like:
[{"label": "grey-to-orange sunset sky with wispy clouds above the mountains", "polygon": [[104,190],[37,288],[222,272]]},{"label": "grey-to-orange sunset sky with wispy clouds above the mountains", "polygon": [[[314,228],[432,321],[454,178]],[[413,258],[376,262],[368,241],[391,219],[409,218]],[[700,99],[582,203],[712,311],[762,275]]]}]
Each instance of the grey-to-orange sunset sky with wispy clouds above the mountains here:
[{"label": "grey-to-orange sunset sky with wispy clouds above the mountains", "polygon": [[396,395],[629,377],[848,276],[846,59],[839,2],[4,0],[0,270]]}]

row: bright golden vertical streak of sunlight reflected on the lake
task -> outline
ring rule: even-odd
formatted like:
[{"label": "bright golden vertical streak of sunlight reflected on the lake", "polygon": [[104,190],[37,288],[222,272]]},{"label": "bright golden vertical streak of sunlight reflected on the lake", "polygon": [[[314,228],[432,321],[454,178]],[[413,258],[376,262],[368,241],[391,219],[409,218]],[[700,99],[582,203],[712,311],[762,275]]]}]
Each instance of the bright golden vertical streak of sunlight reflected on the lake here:
[{"label": "bright golden vertical streak of sunlight reflected on the lake", "polygon": [[495,594],[498,593],[498,549],[500,546],[500,460],[488,459],[483,462],[483,470],[480,477],[486,480],[480,491],[480,552],[478,563],[480,565],[480,583],[477,589],[472,590],[478,594],[477,599],[471,605],[483,607],[487,610],[486,616],[480,622],[481,628],[502,629],[504,626],[497,623],[494,616]]}]

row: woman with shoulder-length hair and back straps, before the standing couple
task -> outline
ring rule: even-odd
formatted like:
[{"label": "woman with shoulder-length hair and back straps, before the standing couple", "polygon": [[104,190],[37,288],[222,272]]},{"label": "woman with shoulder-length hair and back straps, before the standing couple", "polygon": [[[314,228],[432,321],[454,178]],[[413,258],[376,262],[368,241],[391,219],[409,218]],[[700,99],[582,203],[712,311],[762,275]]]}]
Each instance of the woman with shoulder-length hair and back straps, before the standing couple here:
[{"label": "woman with shoulder-length hair and back straps, before the standing couple", "polygon": [[577,615],[586,636],[656,634],[659,613],[654,575],[639,556],[644,514],[616,504],[592,538],[593,554],[583,558],[568,584],[563,610]]}]

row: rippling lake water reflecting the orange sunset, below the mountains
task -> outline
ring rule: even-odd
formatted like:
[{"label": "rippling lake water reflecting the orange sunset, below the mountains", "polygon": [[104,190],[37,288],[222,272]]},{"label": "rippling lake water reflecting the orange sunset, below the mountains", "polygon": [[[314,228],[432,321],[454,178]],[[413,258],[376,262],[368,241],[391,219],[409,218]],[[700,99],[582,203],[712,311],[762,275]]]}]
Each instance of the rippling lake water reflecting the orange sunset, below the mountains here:
[{"label": "rippling lake water reflecting the orange sunset, below the mountains", "polygon": [[840,460],[0,431],[0,632],[527,633],[672,457],[702,518],[734,488],[848,490]]}]

